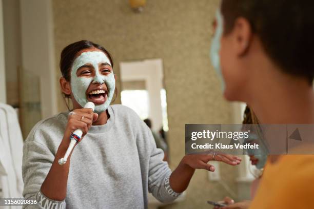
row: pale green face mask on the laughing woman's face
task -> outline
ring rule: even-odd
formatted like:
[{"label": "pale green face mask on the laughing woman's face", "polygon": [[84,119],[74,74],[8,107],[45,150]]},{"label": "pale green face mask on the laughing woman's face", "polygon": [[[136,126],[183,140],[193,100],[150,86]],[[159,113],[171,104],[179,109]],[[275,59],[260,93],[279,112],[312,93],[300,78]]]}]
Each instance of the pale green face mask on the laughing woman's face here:
[{"label": "pale green face mask on the laughing woman's face", "polygon": [[[108,89],[107,99],[102,105],[95,106],[95,113],[101,113],[108,109],[110,102],[112,100],[114,89],[115,89],[115,79],[114,74],[111,72],[108,75],[102,75],[99,72],[98,65],[100,63],[108,63],[111,65],[110,60],[105,55],[105,53],[100,51],[93,52],[84,52],[78,56],[74,62],[71,69],[71,89],[74,96],[74,99],[80,104],[81,107],[84,107],[88,102],[86,91],[91,83],[105,83]],[[77,69],[86,65],[91,64],[95,70],[94,77],[77,77]]]}]

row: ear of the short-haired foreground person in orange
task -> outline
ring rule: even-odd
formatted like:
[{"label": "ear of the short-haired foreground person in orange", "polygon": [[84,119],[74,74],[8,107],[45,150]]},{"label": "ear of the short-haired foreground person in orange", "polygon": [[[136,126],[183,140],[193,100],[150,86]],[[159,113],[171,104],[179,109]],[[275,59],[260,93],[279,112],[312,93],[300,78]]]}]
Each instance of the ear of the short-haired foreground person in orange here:
[{"label": "ear of the short-haired foreground person in orange", "polygon": [[252,38],[252,29],[248,20],[243,17],[235,19],[232,33],[235,51],[239,56],[245,55],[249,49]]}]

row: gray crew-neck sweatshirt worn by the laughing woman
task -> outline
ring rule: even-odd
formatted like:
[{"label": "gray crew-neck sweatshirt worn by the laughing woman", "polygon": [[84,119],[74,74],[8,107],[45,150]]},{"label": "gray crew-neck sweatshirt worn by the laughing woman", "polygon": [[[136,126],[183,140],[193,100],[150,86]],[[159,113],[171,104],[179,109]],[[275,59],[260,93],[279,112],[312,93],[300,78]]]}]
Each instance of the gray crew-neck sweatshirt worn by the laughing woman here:
[{"label": "gray crew-neck sweatshirt worn by the laughing woman", "polygon": [[146,124],[122,105],[110,106],[108,113],[107,123],[91,126],[74,148],[63,201],[50,200],[40,188],[63,138],[68,113],[36,124],[24,144],[22,170],[23,196],[38,203],[24,208],[147,208],[148,192],[162,202],[179,196],[169,185],[171,171]]}]

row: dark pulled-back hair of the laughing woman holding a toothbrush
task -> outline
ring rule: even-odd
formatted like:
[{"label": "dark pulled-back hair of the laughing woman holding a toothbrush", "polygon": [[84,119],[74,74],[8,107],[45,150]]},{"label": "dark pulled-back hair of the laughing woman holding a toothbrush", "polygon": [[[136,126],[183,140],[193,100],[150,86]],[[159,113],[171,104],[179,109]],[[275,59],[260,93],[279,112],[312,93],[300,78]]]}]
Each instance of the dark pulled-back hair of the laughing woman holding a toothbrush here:
[{"label": "dark pulled-back hair of the laughing woman holding a toothbrush", "polygon": [[110,53],[104,47],[98,44],[95,44],[89,40],[80,40],[66,46],[61,52],[60,70],[61,70],[62,76],[65,77],[67,81],[70,81],[71,67],[76,58],[76,54],[83,49],[89,49],[89,48],[97,48],[97,49],[102,50],[109,58],[111,65],[113,67],[112,57]]}]

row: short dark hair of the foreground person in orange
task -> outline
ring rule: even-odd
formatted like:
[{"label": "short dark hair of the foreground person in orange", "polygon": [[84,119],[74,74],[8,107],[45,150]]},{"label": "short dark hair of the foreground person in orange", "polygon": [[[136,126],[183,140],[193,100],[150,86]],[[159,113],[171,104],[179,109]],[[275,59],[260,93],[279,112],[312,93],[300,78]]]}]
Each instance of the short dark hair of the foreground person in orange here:
[{"label": "short dark hair of the foreground person in orange", "polygon": [[286,73],[314,77],[314,1],[223,0],[225,34],[235,19],[244,17],[256,33],[267,55]]}]

